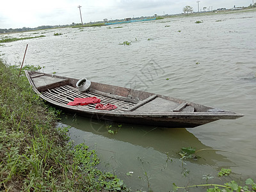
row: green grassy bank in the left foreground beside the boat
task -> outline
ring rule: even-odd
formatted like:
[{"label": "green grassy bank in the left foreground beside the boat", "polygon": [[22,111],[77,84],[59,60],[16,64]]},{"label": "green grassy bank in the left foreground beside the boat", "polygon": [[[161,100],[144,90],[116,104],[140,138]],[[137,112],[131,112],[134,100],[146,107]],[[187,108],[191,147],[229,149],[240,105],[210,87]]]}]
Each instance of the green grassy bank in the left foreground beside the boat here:
[{"label": "green grassy bank in the left foreground beside the boat", "polygon": [[86,145],[68,143],[58,113],[36,95],[22,72],[0,61],[0,191],[126,191],[97,170]]}]

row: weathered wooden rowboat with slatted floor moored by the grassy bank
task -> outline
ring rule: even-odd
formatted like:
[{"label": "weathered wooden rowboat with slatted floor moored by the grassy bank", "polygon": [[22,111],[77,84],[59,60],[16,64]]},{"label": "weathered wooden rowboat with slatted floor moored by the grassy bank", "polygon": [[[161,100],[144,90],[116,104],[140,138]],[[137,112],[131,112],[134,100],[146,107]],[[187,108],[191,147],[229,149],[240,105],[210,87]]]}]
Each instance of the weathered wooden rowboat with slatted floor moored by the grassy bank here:
[{"label": "weathered wooden rowboat with slatted floor moored by the grassy bank", "polygon": [[[90,90],[79,92],[79,79],[25,71],[33,90],[58,109],[68,113],[124,124],[157,127],[196,127],[220,119],[236,119],[242,114],[215,109],[182,99],[142,92],[120,86],[91,82]],[[74,98],[97,97],[100,103],[114,104],[111,111],[95,109],[96,104],[68,106]]]}]

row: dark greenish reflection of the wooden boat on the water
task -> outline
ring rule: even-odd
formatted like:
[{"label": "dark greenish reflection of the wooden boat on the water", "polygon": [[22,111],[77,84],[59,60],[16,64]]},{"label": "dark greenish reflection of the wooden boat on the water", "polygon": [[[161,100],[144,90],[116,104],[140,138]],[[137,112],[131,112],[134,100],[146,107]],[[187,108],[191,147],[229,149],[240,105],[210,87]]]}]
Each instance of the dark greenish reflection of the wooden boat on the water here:
[{"label": "dark greenish reflection of the wooden boat on the water", "polygon": [[[73,139],[76,138],[76,134],[77,136],[81,136],[83,132],[84,134],[90,132],[104,136],[109,140],[124,141],[144,148],[154,148],[158,152],[168,154],[168,156],[177,159],[180,158],[179,152],[182,147],[193,147],[196,151],[199,150],[196,152],[196,156],[199,158],[186,159],[186,161],[208,165],[232,165],[232,162],[223,156],[225,152],[204,145],[186,129],[166,129],[129,124],[120,125],[113,122],[99,122],[98,120],[68,114],[61,116],[61,122],[75,129],[75,131],[72,131],[72,134],[74,134],[72,136]],[[113,131],[114,134],[108,132],[109,130]],[[81,131],[83,132],[81,133]],[[75,144],[83,142],[74,140]]]}]

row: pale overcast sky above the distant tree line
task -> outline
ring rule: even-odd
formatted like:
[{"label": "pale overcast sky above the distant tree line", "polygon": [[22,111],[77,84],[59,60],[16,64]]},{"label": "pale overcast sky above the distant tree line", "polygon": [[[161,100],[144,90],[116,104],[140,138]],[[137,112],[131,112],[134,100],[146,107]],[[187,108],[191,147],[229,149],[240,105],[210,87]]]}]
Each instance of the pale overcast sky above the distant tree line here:
[{"label": "pale overcast sky above the distant tree line", "polygon": [[[2,0],[0,28],[35,28],[38,26],[81,23],[78,5],[81,5],[83,22],[103,19],[151,16],[181,13],[186,5],[198,11],[197,0]],[[232,8],[248,6],[253,0],[199,0],[203,7]],[[255,0],[256,3],[256,0]]]}]

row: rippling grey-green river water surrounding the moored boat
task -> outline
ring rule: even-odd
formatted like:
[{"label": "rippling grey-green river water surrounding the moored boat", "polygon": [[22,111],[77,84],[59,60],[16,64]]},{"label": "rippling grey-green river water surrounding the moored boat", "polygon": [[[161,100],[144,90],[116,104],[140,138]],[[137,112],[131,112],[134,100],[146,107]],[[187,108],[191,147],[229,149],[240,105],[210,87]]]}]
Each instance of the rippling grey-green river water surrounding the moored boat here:
[{"label": "rippling grey-green river water surrounding the moored boat", "polygon": [[[196,24],[197,20],[202,23]],[[204,175],[214,177],[208,183],[215,184],[256,180],[255,31],[255,12],[49,29],[0,35],[45,35],[3,44],[0,56],[8,64],[20,65],[29,44],[25,65],[40,65],[43,72],[87,77],[243,113],[237,120],[193,129],[118,125],[62,115],[60,126],[71,126],[75,144],[84,142],[97,151],[100,169],[114,172],[132,191],[171,191],[173,182],[205,184]],[[120,45],[123,42],[131,44]],[[108,133],[108,127],[117,133]],[[182,147],[205,150],[196,153],[197,160],[181,161]],[[230,177],[218,177],[221,168],[230,168]]]}]

